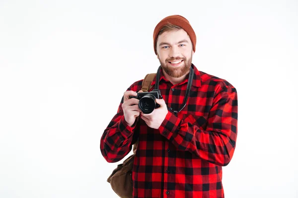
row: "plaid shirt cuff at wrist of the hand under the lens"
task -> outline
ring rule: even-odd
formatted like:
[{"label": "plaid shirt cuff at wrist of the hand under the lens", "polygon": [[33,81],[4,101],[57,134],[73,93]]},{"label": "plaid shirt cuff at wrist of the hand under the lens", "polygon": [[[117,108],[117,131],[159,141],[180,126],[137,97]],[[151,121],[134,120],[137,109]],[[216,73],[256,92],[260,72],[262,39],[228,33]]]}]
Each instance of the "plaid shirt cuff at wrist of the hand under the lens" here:
[{"label": "plaid shirt cuff at wrist of the hand under the lens", "polygon": [[168,111],[158,130],[162,136],[169,140],[172,137],[173,132],[176,131],[180,122],[180,118]]}]

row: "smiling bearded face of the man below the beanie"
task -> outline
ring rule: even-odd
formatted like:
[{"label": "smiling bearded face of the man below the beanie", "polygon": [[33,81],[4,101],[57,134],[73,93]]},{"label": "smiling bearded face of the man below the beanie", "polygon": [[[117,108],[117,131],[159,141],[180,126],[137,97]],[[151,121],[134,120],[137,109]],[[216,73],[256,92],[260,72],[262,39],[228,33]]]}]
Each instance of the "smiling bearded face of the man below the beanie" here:
[{"label": "smiling bearded face of the man below the beanie", "polygon": [[157,37],[157,58],[169,76],[179,78],[189,72],[192,63],[192,43],[183,30],[164,32]]}]

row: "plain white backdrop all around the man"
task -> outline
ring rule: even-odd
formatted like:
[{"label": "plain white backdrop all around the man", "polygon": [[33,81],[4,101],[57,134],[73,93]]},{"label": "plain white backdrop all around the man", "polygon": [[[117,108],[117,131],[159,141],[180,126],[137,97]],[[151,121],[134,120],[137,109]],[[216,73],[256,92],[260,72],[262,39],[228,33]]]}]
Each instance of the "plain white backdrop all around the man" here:
[{"label": "plain white backdrop all around the man", "polygon": [[0,0],[0,198],[117,198],[100,138],[172,14],[238,92],[225,197],[298,198],[297,0]]}]

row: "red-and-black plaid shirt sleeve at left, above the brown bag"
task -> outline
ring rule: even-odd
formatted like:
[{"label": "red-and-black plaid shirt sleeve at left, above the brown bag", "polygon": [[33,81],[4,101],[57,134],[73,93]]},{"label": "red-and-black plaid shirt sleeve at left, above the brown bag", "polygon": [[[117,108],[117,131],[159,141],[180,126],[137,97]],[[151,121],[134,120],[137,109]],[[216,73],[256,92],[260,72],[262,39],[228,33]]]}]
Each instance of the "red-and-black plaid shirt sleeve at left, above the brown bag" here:
[{"label": "red-and-black plaid shirt sleeve at left, above the brown bag", "polygon": [[132,149],[133,134],[137,119],[132,127],[127,124],[122,109],[123,101],[124,98],[122,97],[117,114],[104,130],[100,140],[101,153],[109,163],[120,161]]}]

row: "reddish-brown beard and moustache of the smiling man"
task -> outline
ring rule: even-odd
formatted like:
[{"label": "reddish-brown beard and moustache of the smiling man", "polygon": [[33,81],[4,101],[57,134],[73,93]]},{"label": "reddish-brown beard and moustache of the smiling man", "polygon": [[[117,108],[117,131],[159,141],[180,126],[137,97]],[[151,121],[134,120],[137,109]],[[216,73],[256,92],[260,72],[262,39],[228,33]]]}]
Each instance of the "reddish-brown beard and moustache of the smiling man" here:
[{"label": "reddish-brown beard and moustache of the smiling man", "polygon": [[[166,59],[165,62],[161,62],[159,58],[158,60],[160,62],[161,68],[165,71],[165,73],[167,73],[167,75],[174,78],[179,78],[189,72],[192,62],[192,54],[189,59],[186,59],[185,57],[176,57]],[[182,65],[179,67],[169,65],[169,62],[173,62],[175,60],[183,60]]]}]

